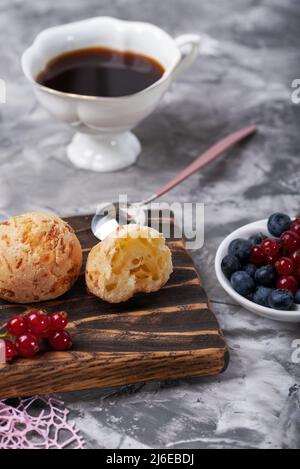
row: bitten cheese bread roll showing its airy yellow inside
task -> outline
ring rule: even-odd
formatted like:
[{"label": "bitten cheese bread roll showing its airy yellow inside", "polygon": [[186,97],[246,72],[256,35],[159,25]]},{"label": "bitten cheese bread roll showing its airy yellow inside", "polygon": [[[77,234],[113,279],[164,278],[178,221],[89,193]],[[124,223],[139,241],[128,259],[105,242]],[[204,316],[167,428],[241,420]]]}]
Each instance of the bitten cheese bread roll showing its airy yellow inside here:
[{"label": "bitten cheese bread roll showing its airy yellow inside", "polygon": [[86,283],[94,295],[120,303],[137,292],[159,290],[172,270],[171,252],[163,235],[132,224],[117,228],[91,250]]}]

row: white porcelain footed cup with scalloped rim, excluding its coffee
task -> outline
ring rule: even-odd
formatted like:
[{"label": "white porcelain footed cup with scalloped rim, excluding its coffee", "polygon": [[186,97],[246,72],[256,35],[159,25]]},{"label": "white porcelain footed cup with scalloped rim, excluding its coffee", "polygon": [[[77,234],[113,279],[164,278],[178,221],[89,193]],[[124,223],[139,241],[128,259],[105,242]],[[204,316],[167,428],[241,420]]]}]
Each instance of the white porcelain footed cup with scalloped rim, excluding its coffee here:
[{"label": "white porcelain footed cup with scalloped rim, excluding its coffee", "polygon": [[[49,28],[38,34],[22,56],[22,68],[40,103],[56,118],[77,130],[68,146],[75,166],[114,171],[133,164],[141,145],[131,132],[156,108],[170,83],[196,58],[200,36],[173,39],[149,23],[98,17]],[[37,83],[49,60],[74,49],[110,47],[133,51],[157,60],[162,77],[136,94],[100,98],[63,93]]]}]

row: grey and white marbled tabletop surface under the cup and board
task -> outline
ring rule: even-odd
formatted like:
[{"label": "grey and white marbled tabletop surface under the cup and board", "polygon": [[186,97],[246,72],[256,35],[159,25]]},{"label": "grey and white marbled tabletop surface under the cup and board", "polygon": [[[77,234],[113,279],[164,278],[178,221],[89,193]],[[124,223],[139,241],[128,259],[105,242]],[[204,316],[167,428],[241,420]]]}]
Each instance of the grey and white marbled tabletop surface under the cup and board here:
[{"label": "grey and white marbled tabletop surface under the cup and board", "polygon": [[[270,212],[299,211],[300,105],[297,0],[0,0],[0,211],[87,213],[118,191],[138,199],[191,162],[220,136],[256,123],[258,135],[169,201],[206,206],[205,246],[192,252],[231,349],[218,378],[151,383],[66,394],[72,418],[94,448],[293,448],[300,446],[299,365],[291,343],[300,327],[255,317],[232,304],[216,282],[218,244]],[[205,32],[215,54],[199,57],[160,108],[136,129],[136,166],[113,175],[72,167],[72,131],[35,101],[20,69],[24,48],[43,28],[95,15],[150,21],[176,36]],[[158,171],[159,169],[159,171]]]}]

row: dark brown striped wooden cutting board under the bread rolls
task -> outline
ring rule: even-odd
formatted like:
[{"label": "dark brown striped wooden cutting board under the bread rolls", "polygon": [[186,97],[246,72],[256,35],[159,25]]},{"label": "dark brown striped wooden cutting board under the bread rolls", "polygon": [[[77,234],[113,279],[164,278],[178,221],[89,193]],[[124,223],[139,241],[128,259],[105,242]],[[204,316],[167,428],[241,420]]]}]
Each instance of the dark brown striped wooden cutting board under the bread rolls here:
[{"label": "dark brown striped wooden cutting board under the bread rolls", "polygon": [[[67,219],[84,252],[97,243],[91,217]],[[33,305],[66,310],[73,348],[0,365],[0,398],[217,375],[229,361],[218,322],[182,239],[171,238],[174,273],[159,292],[113,305],[87,293],[84,270],[63,297]],[[27,306],[0,301],[0,325]]]}]

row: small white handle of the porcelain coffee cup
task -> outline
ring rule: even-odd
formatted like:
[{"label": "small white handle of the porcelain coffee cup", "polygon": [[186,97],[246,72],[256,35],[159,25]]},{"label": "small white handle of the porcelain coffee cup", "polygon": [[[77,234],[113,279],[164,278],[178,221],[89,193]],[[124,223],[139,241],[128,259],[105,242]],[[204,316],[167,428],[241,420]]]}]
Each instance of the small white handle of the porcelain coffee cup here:
[{"label": "small white handle of the porcelain coffee cup", "polygon": [[[181,58],[172,72],[173,79],[181,75],[196,59],[201,37],[197,34],[183,34],[175,39],[177,47],[181,52]],[[185,51],[185,49],[189,49]]]}]

